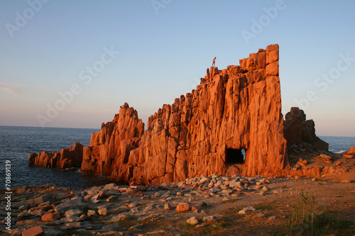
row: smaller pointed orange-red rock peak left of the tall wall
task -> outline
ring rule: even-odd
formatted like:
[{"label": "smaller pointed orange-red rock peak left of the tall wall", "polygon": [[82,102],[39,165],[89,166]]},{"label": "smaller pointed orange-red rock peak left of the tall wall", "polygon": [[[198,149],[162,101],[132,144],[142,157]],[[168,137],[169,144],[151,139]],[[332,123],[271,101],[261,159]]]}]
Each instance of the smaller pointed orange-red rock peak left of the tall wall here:
[{"label": "smaller pointed orange-red rock peak left of the tall wall", "polygon": [[144,123],[137,111],[124,103],[114,120],[103,123],[102,129],[92,134],[89,147],[84,147],[82,172],[128,181],[132,166],[141,164],[139,160],[129,162],[129,154],[138,147],[143,133]]}]

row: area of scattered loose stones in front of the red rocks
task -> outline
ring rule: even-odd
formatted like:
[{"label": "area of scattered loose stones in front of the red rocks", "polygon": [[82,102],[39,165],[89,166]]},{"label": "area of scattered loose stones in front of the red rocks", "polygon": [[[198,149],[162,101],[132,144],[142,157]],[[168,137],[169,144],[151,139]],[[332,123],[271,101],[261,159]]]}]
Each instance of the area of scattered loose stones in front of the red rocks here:
[{"label": "area of scattered loose stones in front of the red rocks", "polygon": [[[209,215],[204,210],[211,202],[231,201],[239,198],[241,192],[257,192],[263,196],[270,190],[268,184],[271,180],[261,176],[214,175],[187,179],[178,184],[160,184],[157,191],[139,191],[116,184],[80,190],[24,186],[13,190],[13,208],[18,210],[13,210],[17,213],[13,219],[17,229],[11,230],[11,234],[36,235],[35,232],[45,232],[65,235],[67,231],[76,230],[86,235],[134,235],[147,220],[176,217],[178,213],[187,211],[204,215],[201,222],[196,216],[187,219],[187,222],[203,225],[223,218],[222,215]],[[244,213],[248,210],[255,209],[249,206]],[[136,225],[116,232],[119,223],[128,219],[136,221]],[[151,232],[154,233],[156,231]]]}]

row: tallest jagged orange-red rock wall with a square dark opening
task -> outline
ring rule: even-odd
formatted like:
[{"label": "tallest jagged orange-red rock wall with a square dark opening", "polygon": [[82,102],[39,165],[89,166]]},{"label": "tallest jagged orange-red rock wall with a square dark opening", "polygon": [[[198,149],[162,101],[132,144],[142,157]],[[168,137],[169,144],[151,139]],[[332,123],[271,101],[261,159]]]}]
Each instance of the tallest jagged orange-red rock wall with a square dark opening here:
[{"label": "tallest jagged orange-red rock wall with a square dark opening", "polygon": [[222,71],[211,67],[196,90],[148,119],[148,130],[129,157],[145,159],[133,167],[133,176],[167,183],[236,174],[229,169],[244,162],[238,150],[246,152],[244,175],[282,174],[287,157],[278,45],[252,53],[240,64]]}]

